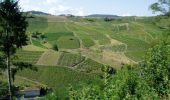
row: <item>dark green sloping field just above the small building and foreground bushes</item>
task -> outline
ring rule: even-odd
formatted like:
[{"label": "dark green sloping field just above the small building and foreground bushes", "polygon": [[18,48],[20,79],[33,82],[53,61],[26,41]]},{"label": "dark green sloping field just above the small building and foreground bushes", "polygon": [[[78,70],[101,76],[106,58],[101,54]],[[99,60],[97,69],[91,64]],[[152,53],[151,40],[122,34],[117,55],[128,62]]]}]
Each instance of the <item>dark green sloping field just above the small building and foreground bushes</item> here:
[{"label": "dark green sloping field just above the small building and foreground bushes", "polygon": [[39,66],[37,72],[25,69],[19,71],[17,75],[48,85],[57,92],[60,99],[64,99],[68,95],[70,85],[78,87],[84,83],[100,82],[99,77],[95,74],[77,72],[65,67]]}]

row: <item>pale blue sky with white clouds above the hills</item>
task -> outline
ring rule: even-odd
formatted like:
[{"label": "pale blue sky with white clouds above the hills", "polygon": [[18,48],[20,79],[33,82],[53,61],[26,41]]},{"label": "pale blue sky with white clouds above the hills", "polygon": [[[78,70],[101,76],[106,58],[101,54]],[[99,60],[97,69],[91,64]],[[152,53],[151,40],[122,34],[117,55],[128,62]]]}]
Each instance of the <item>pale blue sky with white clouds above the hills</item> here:
[{"label": "pale blue sky with white clouds above the hills", "polygon": [[119,16],[153,16],[149,9],[158,0],[20,0],[23,11],[43,11],[53,15],[111,14]]}]

